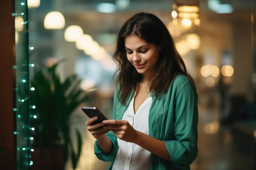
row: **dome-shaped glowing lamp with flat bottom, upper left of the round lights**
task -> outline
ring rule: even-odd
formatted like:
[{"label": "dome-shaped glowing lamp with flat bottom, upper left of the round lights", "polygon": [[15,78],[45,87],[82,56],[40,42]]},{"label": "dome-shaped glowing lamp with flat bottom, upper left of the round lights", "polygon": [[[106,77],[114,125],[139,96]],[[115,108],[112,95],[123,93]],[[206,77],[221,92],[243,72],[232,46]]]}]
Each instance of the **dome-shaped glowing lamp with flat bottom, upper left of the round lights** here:
[{"label": "dome-shaped glowing lamp with flat bottom, upper left of the round lights", "polygon": [[45,29],[63,29],[65,26],[65,18],[58,11],[51,11],[45,15]]}]

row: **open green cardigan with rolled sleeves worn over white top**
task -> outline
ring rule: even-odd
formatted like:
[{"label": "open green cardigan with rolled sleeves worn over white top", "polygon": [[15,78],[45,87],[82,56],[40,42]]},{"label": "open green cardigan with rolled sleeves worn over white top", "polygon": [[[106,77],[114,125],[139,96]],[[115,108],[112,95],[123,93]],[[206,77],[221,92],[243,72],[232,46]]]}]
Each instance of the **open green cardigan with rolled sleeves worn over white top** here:
[{"label": "open green cardigan with rolled sleeves worn over white top", "polygon": [[[112,119],[122,119],[127,106],[122,105],[114,94]],[[168,161],[151,153],[150,170],[190,170],[190,164],[198,154],[198,95],[195,87],[184,75],[177,75],[168,91],[161,97],[153,97],[149,110],[149,136],[165,141],[166,149],[172,159]],[[118,150],[117,137],[107,133],[112,141],[112,152],[105,154],[94,143],[95,155],[103,161],[111,161],[111,170]],[[141,158],[143,161],[143,158]]]}]

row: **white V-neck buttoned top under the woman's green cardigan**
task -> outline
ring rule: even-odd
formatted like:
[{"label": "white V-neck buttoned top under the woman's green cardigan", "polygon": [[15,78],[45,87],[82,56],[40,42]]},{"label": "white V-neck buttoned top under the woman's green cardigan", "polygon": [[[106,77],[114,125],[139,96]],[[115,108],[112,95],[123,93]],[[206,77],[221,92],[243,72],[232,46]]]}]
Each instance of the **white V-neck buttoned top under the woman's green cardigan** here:
[{"label": "white V-neck buttoned top under the woman's green cardigan", "polygon": [[[134,97],[125,111],[122,120],[140,132],[148,135],[148,114],[152,103],[152,97],[148,98],[141,104],[136,114],[134,113]],[[112,166],[112,170],[149,170],[150,169],[150,152],[139,145],[123,141],[117,138],[119,149]]]}]

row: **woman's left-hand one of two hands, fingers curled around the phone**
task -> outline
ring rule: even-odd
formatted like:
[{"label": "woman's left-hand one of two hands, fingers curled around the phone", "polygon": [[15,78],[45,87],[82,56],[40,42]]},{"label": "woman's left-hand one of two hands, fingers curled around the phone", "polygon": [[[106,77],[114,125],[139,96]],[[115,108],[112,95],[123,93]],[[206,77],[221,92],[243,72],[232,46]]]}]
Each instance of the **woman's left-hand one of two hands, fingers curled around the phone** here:
[{"label": "woman's left-hand one of two hands, fingers curled around the phone", "polygon": [[103,125],[105,124],[103,124],[102,122],[93,124],[93,122],[96,121],[97,119],[98,119],[97,116],[90,118],[88,121],[86,121],[86,126],[87,126],[87,130],[90,131],[90,133],[94,138],[101,139],[102,137],[105,136],[107,132],[110,131],[110,129],[103,128]]}]

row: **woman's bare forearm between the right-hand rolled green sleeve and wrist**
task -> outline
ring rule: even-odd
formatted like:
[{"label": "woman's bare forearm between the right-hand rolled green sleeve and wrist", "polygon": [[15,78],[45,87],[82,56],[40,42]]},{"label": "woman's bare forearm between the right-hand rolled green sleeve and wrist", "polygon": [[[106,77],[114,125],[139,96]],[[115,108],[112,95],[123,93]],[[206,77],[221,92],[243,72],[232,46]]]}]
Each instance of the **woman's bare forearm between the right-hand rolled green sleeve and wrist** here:
[{"label": "woman's bare forearm between the right-hand rolled green sleeve and wrist", "polygon": [[148,150],[154,155],[157,155],[158,157],[161,157],[168,161],[172,161],[170,155],[166,150],[166,144],[164,141],[160,141],[142,132],[137,131],[137,135],[134,138],[133,143],[141,146],[142,148]]}]

